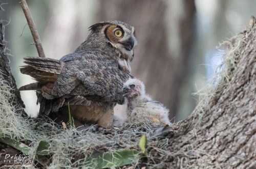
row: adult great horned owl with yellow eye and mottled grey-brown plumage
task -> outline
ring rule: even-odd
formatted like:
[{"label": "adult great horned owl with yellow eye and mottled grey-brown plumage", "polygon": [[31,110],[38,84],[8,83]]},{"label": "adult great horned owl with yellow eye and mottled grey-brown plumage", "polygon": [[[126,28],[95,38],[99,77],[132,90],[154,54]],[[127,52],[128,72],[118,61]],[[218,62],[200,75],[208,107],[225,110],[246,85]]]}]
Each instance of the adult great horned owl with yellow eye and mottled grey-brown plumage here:
[{"label": "adult great horned owl with yellow eye and mottled grey-brown plumage", "polygon": [[40,116],[65,119],[65,105],[69,102],[74,119],[111,126],[114,106],[124,101],[123,82],[132,77],[129,74],[137,45],[135,30],[116,20],[99,22],[89,29],[88,38],[60,60],[24,58],[28,66],[23,66],[20,72],[37,82],[19,90],[37,91]]}]

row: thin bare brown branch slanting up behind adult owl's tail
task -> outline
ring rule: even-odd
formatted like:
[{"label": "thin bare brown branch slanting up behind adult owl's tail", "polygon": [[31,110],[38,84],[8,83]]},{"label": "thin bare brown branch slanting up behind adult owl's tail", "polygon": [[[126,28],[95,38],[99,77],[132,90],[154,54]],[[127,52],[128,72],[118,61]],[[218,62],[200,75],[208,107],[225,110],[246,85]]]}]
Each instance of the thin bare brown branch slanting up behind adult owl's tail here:
[{"label": "thin bare brown branch slanting up behind adult owl's tail", "polygon": [[39,35],[36,31],[35,24],[34,24],[32,16],[31,16],[31,13],[29,11],[29,7],[27,5],[27,2],[26,2],[26,0],[19,0],[19,3],[20,3],[20,5],[22,5],[23,12],[24,12],[24,14],[26,16],[26,19],[28,21],[29,29],[30,29],[31,34],[33,36],[38,55],[39,55],[39,57],[45,58],[46,57],[45,52],[44,52],[44,49],[42,48],[41,40],[40,40]]}]

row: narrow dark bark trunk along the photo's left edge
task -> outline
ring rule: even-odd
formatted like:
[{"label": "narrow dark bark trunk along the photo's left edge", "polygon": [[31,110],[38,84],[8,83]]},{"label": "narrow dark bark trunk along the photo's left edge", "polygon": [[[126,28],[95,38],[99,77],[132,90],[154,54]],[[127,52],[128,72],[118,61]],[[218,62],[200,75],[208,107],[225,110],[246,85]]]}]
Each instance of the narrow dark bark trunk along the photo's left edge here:
[{"label": "narrow dark bark trunk along the photo's left edge", "polygon": [[24,116],[27,116],[23,109],[25,108],[25,105],[22,101],[19,91],[17,90],[15,79],[11,73],[9,65],[10,61],[5,51],[3,30],[3,23],[0,15],[0,79],[8,83],[10,87],[13,89],[10,94],[14,95],[14,98],[13,100],[10,100],[10,102],[12,102],[12,104],[15,105],[17,112],[22,113],[22,115]]}]

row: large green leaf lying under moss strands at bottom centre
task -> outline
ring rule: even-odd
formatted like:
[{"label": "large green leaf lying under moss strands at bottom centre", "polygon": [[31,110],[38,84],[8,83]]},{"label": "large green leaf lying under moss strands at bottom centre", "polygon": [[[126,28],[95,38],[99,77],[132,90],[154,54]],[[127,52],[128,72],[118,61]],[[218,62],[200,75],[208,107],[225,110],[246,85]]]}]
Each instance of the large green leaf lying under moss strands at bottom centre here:
[{"label": "large green leaf lying under moss strands at bottom centre", "polygon": [[79,161],[79,166],[93,168],[123,166],[135,161],[138,154],[139,151],[137,150],[120,150],[114,153],[93,153],[85,160]]}]

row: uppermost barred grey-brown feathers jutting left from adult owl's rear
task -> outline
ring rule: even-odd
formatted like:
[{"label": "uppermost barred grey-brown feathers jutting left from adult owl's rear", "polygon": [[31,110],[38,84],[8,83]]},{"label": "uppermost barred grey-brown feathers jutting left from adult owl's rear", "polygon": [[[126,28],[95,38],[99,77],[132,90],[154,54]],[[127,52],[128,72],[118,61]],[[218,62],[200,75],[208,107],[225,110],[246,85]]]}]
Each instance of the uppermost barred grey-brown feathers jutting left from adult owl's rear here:
[{"label": "uppermost barred grey-brown feathers jutting left from adult owl's rear", "polygon": [[36,70],[50,72],[54,74],[60,74],[64,66],[63,62],[51,58],[26,57],[24,58],[24,60],[24,63],[28,64]]}]

